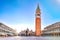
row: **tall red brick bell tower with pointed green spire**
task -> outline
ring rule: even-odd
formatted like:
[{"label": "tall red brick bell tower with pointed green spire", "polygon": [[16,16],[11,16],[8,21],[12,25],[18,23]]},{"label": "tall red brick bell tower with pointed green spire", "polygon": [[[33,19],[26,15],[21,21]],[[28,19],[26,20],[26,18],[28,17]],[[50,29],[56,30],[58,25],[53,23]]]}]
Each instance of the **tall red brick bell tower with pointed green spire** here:
[{"label": "tall red brick bell tower with pointed green spire", "polygon": [[41,12],[39,8],[39,4],[37,6],[36,14],[35,14],[35,35],[41,36]]}]

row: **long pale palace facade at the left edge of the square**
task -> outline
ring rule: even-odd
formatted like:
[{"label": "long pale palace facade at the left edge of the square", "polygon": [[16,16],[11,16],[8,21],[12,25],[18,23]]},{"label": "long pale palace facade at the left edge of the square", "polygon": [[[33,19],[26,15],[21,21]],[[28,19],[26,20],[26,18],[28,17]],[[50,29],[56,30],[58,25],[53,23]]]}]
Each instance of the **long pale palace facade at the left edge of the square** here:
[{"label": "long pale palace facade at the left edge of the square", "polygon": [[15,30],[6,26],[3,23],[0,23],[0,36],[15,36],[15,35],[17,35]]}]

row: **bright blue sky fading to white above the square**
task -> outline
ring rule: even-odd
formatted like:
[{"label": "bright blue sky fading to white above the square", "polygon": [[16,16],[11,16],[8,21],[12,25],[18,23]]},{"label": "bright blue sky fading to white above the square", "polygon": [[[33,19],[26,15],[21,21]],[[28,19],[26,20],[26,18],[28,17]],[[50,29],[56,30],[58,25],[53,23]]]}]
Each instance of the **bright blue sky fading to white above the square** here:
[{"label": "bright blue sky fading to white above the square", "polygon": [[41,28],[60,22],[60,0],[0,0],[0,22],[20,32],[35,31],[37,4],[41,10]]}]

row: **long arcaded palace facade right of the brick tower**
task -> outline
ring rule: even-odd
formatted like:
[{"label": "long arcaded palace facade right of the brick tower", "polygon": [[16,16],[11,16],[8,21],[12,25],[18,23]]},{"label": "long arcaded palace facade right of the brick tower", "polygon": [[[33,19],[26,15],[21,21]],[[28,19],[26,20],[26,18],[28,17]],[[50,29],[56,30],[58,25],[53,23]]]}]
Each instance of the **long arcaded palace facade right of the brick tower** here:
[{"label": "long arcaded palace facade right of the brick tower", "polygon": [[56,22],[44,28],[43,36],[60,36],[60,22]]}]

